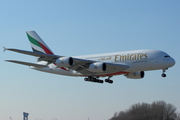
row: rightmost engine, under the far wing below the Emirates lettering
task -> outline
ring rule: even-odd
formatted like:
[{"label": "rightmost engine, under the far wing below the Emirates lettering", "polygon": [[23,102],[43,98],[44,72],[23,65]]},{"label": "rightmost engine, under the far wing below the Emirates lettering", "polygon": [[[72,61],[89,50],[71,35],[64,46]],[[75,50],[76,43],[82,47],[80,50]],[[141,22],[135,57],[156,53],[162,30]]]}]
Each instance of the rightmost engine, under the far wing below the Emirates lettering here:
[{"label": "rightmost engine, under the far wing below the Emirates lettering", "polygon": [[130,79],[141,79],[144,77],[144,75],[145,75],[144,71],[137,71],[137,72],[125,74],[124,76]]}]

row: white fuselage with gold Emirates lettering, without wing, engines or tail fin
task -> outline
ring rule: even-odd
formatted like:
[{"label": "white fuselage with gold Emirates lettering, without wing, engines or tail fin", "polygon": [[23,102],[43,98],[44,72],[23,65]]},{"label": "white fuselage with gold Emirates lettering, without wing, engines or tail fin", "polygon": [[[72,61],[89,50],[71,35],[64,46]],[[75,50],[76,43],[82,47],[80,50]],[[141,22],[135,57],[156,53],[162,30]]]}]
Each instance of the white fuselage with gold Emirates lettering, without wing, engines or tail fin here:
[{"label": "white fuselage with gold Emirates lettering, without wing, engines or tail fin", "polygon": [[[149,71],[166,69],[172,67],[175,64],[175,60],[170,57],[167,53],[159,50],[135,50],[135,51],[125,51],[125,52],[115,52],[115,53],[105,53],[105,54],[95,54],[95,55],[84,55],[84,56],[74,56],[73,58],[81,58],[87,60],[94,60],[99,62],[108,62],[116,64],[124,64],[130,66],[125,71],[119,71],[112,74],[105,74],[103,72],[96,73],[96,76],[114,76],[120,74],[126,74],[136,71]],[[38,64],[47,64],[45,61],[39,61]],[[67,76],[84,76],[75,70],[68,68],[57,67],[55,64],[49,64],[48,67],[40,68],[33,67],[43,72],[49,72],[60,75]]]}]

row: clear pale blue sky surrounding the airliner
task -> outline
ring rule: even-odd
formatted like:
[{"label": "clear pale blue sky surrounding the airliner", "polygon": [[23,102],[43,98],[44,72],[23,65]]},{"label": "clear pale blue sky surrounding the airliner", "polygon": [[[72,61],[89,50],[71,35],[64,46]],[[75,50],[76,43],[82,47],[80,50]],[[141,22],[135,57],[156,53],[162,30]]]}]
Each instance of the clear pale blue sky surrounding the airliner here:
[{"label": "clear pale blue sky surrounding the airliner", "polygon": [[19,120],[29,112],[30,120],[107,120],[132,104],[157,100],[180,112],[179,6],[179,0],[1,0],[1,46],[31,50],[25,31],[35,30],[58,55],[157,49],[176,65],[166,78],[157,70],[140,80],[115,76],[112,85],[101,85],[7,63],[35,58],[1,52],[0,119]]}]

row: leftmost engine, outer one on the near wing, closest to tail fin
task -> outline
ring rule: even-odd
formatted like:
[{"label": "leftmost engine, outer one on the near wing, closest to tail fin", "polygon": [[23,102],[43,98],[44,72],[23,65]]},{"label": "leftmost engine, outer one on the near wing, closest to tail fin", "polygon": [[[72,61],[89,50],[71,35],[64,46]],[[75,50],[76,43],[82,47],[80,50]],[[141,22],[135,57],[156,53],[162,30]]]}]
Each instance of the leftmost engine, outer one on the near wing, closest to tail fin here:
[{"label": "leftmost engine, outer one on the near wing, closest to tail fin", "polygon": [[56,59],[55,64],[58,67],[70,67],[73,65],[73,58],[72,57],[61,57]]}]

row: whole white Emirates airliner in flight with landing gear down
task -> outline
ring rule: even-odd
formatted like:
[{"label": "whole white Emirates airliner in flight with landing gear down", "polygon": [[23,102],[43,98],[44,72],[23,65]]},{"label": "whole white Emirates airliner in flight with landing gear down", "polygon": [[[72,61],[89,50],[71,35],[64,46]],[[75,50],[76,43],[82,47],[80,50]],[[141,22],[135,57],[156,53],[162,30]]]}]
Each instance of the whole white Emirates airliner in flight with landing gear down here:
[{"label": "whole white Emirates airliner in flight with landing gear down", "polygon": [[27,65],[38,71],[85,77],[85,81],[103,83],[104,81],[99,78],[107,77],[105,82],[113,83],[110,78],[115,75],[141,79],[145,75],[144,71],[159,69],[162,69],[162,77],[166,77],[165,71],[175,64],[172,57],[159,50],[135,50],[72,57],[55,55],[35,31],[27,31],[26,34],[33,51],[5,47],[4,51],[35,56],[37,63],[6,61]]}]

